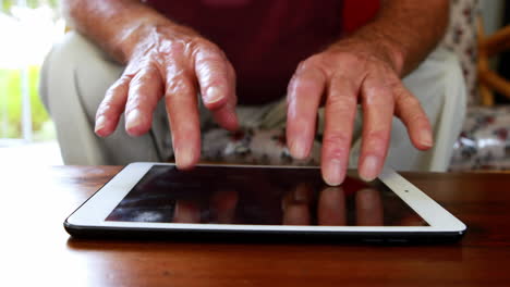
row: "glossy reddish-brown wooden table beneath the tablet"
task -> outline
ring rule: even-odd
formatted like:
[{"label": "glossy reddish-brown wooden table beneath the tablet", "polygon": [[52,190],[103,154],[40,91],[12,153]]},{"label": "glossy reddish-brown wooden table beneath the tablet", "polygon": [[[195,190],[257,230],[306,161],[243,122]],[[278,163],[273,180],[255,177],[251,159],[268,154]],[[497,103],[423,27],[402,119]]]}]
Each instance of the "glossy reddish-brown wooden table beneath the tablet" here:
[{"label": "glossy reddish-brown wooden table beneath the tablet", "polygon": [[119,166],[0,166],[0,286],[510,286],[510,174],[404,174],[469,225],[439,246],[77,240]]}]

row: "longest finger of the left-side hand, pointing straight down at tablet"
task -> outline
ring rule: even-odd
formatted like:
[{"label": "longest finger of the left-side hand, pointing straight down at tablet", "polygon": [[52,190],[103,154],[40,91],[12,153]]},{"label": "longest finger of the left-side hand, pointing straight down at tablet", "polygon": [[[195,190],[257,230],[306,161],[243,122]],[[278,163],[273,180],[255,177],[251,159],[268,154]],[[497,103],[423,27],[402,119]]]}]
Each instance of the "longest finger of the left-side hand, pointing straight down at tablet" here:
[{"label": "longest finger of the left-side hand, pointing straight down at tablet", "polygon": [[165,103],[172,133],[175,163],[179,169],[193,167],[201,157],[201,123],[196,88],[191,76],[168,66]]}]

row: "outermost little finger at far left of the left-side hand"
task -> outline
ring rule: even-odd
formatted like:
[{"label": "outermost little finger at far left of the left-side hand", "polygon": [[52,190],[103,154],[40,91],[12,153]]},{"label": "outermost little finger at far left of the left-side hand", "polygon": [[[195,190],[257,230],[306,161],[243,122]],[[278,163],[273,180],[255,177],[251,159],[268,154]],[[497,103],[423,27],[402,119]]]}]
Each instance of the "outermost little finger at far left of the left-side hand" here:
[{"label": "outermost little finger at far left of the left-side hand", "polygon": [[100,137],[111,135],[119,124],[124,112],[127,91],[132,77],[122,75],[106,92],[105,98],[97,108],[95,133]]}]

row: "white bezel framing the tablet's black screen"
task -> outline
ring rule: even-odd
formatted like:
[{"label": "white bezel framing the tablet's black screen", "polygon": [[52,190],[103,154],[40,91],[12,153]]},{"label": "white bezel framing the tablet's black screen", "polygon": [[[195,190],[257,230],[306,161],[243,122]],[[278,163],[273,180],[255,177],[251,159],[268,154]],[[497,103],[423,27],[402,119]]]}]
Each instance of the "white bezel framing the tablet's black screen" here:
[{"label": "white bezel framing the tablet's black screen", "polygon": [[[129,227],[131,229],[180,229],[180,230],[250,230],[250,232],[364,232],[364,233],[459,233],[466,226],[426,196],[392,169],[386,166],[379,179],[399,196],[411,209],[422,216],[429,226],[284,226],[247,224],[184,224],[184,223],[139,223],[105,221],[127,192],[139,182],[153,165],[173,165],[171,163],[138,162],[125,166],[98,192],[88,199],[73,214],[66,224],[75,227]],[[207,166],[206,164],[202,166]],[[214,165],[229,167],[264,169],[318,169],[274,165]]]}]

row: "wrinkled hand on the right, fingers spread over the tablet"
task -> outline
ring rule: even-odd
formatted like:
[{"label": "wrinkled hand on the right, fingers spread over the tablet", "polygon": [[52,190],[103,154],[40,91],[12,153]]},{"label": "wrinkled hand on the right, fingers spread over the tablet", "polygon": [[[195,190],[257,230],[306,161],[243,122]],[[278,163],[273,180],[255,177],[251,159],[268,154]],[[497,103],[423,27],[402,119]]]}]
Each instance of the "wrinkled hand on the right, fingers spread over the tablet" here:
[{"label": "wrinkled hand on the right, fingers spread over the tablet", "polygon": [[385,47],[355,38],[340,41],[302,62],[289,84],[287,138],[294,158],[308,155],[317,109],[326,103],[321,173],[329,185],[340,185],[345,177],[359,102],[363,109],[359,172],[365,180],[375,179],[384,165],[393,114],[417,149],[433,146],[428,118],[402,85],[394,53]]}]

